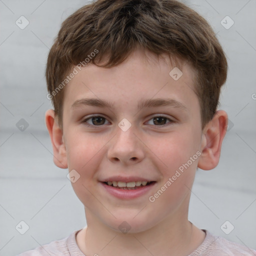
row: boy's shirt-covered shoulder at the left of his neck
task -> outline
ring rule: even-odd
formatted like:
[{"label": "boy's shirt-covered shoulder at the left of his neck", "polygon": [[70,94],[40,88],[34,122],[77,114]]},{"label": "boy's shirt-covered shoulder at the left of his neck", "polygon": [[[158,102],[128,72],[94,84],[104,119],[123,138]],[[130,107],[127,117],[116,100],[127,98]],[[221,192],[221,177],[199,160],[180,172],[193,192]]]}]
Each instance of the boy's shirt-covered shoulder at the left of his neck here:
[{"label": "boy's shirt-covered shoulder at the left of his neck", "polygon": [[49,256],[49,255],[58,255],[58,256],[69,256],[69,248],[68,244],[70,240],[75,239],[75,233],[79,230],[73,231],[69,236],[52,241],[48,244],[44,244],[42,246],[37,246],[34,249],[22,252],[17,256]]}]

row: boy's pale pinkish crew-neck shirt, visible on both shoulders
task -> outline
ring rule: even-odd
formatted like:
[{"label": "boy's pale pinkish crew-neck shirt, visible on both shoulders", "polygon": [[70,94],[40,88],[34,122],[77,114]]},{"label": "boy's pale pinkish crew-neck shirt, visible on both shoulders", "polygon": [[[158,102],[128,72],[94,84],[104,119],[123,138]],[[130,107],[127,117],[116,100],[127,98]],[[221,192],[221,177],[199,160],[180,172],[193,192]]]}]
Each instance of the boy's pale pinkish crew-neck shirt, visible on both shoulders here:
[{"label": "boy's pale pinkish crew-neck shirt, visible on both shoulders", "polygon": [[[28,250],[17,256],[85,256],[77,246],[75,236],[80,230],[73,231],[69,236],[52,241],[33,250]],[[187,256],[256,256],[256,250],[226,240],[223,237],[215,236],[207,230],[203,230],[206,236],[201,243]]]}]

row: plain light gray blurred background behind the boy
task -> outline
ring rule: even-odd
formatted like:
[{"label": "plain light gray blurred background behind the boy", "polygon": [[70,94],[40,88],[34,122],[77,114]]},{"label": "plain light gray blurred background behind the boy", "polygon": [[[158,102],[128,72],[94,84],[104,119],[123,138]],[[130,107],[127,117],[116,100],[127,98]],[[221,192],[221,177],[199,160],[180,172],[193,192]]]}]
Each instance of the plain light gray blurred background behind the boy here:
[{"label": "plain light gray blurred background behind the boy", "polygon": [[[228,57],[220,108],[231,123],[218,166],[197,171],[189,220],[255,249],[256,1],[185,2],[212,25]],[[44,78],[48,50],[61,22],[86,3],[0,0],[0,255],[64,238],[86,224],[67,169],[52,161],[44,123],[51,108]],[[29,21],[24,29],[15,24],[21,15]],[[226,15],[234,21],[229,29],[220,23]],[[16,126],[21,118],[28,123],[24,131]],[[24,234],[15,229],[21,220],[29,226]],[[226,220],[234,226],[229,234],[220,228]]]}]

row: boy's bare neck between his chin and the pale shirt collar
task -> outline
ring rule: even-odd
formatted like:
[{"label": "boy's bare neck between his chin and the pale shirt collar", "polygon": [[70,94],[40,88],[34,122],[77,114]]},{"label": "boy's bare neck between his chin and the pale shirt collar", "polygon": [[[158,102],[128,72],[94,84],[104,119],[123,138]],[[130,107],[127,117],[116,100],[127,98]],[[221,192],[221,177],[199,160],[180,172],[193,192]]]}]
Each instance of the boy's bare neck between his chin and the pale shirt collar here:
[{"label": "boy's bare neck between his chin and the pale shirt collar", "polygon": [[76,237],[86,256],[190,254],[203,241],[205,233],[183,216],[168,216],[157,225],[138,233],[121,233],[100,221],[86,209],[87,226]]}]

